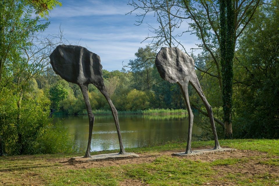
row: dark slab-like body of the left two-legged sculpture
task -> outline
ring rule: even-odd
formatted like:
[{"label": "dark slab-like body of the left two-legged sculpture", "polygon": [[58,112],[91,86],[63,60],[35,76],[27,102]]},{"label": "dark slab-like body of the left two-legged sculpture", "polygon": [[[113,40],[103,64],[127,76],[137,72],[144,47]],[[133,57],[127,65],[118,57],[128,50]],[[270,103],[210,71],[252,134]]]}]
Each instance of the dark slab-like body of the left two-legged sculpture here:
[{"label": "dark slab-like body of the left two-legged sculpture", "polygon": [[59,45],[53,50],[50,63],[56,74],[68,82],[103,84],[100,57],[81,46]]}]

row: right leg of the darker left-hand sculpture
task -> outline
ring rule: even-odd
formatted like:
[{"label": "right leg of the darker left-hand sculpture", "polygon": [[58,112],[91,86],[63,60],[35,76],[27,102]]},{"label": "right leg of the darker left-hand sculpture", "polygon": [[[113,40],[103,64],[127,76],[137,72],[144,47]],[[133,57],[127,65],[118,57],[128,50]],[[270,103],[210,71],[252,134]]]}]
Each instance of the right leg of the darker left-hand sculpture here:
[{"label": "right leg of the darker left-hand sculpture", "polygon": [[115,106],[113,105],[110,96],[108,95],[108,92],[105,89],[105,86],[103,87],[97,87],[101,93],[105,96],[105,99],[108,101],[108,104],[110,105],[110,109],[112,112],[112,116],[115,122],[115,126],[116,126],[116,130],[117,130],[117,135],[118,135],[118,141],[119,141],[119,146],[120,146],[120,151],[119,154],[125,154],[125,149],[123,146],[123,142],[122,142],[122,137],[121,137],[121,132],[120,132],[120,126],[119,126],[119,121],[118,121],[118,115],[117,115],[117,110],[115,108]]}]

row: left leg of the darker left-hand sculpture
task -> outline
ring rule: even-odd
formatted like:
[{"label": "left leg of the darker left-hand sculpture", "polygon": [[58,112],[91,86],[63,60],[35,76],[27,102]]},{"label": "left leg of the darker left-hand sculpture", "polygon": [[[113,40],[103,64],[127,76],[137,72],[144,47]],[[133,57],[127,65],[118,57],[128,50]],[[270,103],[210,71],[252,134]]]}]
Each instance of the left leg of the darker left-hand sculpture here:
[{"label": "left leg of the darker left-hand sculpture", "polygon": [[90,146],[91,146],[91,138],[92,138],[92,129],[93,129],[93,125],[94,125],[94,115],[92,113],[92,108],[89,102],[89,98],[88,98],[88,84],[81,84],[79,85],[79,87],[81,88],[81,92],[83,95],[83,99],[85,101],[85,105],[86,105],[86,109],[87,109],[87,113],[88,113],[88,119],[89,119],[89,136],[88,136],[88,144],[87,144],[87,149],[85,152],[85,155],[83,156],[83,158],[91,158],[90,155]]}]

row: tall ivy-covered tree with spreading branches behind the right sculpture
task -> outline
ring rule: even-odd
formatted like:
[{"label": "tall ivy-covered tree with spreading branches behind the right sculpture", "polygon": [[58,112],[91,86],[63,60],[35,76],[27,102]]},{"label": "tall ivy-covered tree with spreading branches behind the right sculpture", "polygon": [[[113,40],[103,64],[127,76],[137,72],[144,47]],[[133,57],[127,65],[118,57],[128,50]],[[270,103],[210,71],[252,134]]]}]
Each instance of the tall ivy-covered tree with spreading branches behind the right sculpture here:
[{"label": "tall ivy-covered tree with spreading branches behind the right sculpture", "polygon": [[[221,2],[221,1],[220,1]],[[239,36],[243,33],[246,26],[249,24],[253,15],[255,14],[257,8],[263,4],[262,0],[234,0],[234,1],[223,1],[225,5],[221,7],[221,4],[217,0],[213,1],[192,1],[192,0],[182,0],[182,1],[169,1],[169,0],[139,0],[137,2],[132,1],[129,3],[134,7],[134,10],[144,10],[143,13],[140,13],[139,17],[142,19],[139,20],[142,23],[144,17],[150,13],[155,12],[155,16],[157,17],[157,21],[161,22],[158,19],[158,14],[156,12],[165,12],[165,15],[169,15],[172,18],[169,19],[172,21],[172,24],[176,26],[171,26],[172,29],[180,28],[180,25],[183,24],[184,20],[190,20],[188,23],[189,29],[186,31],[182,31],[181,34],[177,36],[182,36],[185,32],[190,32],[195,34],[200,40],[201,44],[196,44],[198,49],[203,49],[203,51],[208,52],[212,56],[212,60],[214,62],[215,68],[217,69],[217,74],[211,74],[208,70],[203,71],[204,73],[213,76],[218,79],[220,91],[226,93],[225,96],[222,95],[223,98],[223,110],[224,113],[224,122],[226,122],[225,131],[227,136],[232,136],[232,130],[230,130],[231,126],[231,108],[232,104],[230,104],[231,100],[231,81],[232,71],[231,68],[226,69],[225,65],[231,64],[231,59],[235,52],[235,46]],[[228,3],[227,3],[228,2]],[[227,6],[228,5],[228,6]],[[225,7],[225,9],[224,9]],[[227,8],[228,7],[228,8]],[[132,10],[131,12],[133,12]],[[173,11],[171,11],[173,10]],[[220,12],[223,10],[228,10],[228,14],[226,12]],[[235,11],[232,11],[235,10]],[[223,22],[223,17],[228,15],[228,21]],[[222,16],[222,17],[221,17]],[[221,21],[222,20],[222,21]],[[231,24],[233,22],[233,24]],[[224,33],[223,31],[227,31],[224,29],[226,25],[230,23],[228,28],[229,33]],[[161,23],[160,23],[161,24]],[[161,24],[162,25],[162,24]],[[170,28],[170,27],[169,27]],[[165,29],[165,27],[158,28],[159,30],[167,31],[170,33],[170,29]],[[173,30],[172,30],[173,32]],[[156,34],[156,33],[155,33]],[[225,34],[225,35],[224,35]],[[227,35],[228,34],[228,38]],[[169,34],[165,34],[169,35]],[[230,40],[230,43],[227,44],[224,42],[223,37]],[[177,42],[180,44],[180,42]],[[223,46],[223,45],[226,46]],[[183,44],[182,44],[183,45]],[[175,46],[175,45],[173,45]],[[160,46],[158,46],[160,47]],[[229,55],[225,55],[222,51],[226,49]],[[227,53],[227,52],[226,52]],[[225,60],[223,60],[225,59]],[[221,66],[221,67],[220,67]],[[222,78],[223,74],[227,74],[225,78]],[[226,82],[228,81],[228,82]],[[223,87],[223,85],[226,85]],[[223,90],[224,89],[224,90]]]}]

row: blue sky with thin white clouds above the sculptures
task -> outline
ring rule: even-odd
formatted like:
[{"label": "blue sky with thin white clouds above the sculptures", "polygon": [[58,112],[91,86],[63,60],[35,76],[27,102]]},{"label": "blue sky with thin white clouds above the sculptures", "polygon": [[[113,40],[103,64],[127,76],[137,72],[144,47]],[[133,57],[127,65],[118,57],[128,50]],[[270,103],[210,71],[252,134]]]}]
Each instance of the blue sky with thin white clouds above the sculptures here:
[{"label": "blue sky with thin white clouds above the sculptures", "polygon": [[[65,38],[72,44],[87,47],[101,58],[103,69],[121,70],[122,61],[127,65],[135,59],[139,47],[145,47],[149,41],[141,43],[152,33],[148,25],[156,27],[156,19],[152,14],[145,17],[140,26],[134,25],[138,17],[135,13],[125,15],[133,10],[127,5],[128,0],[61,0],[61,7],[50,12],[51,25],[46,33],[58,33],[59,26]],[[187,30],[188,24],[183,22],[180,32]],[[180,37],[186,49],[195,48],[199,43],[196,36],[184,34]]]}]

